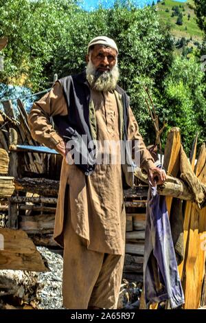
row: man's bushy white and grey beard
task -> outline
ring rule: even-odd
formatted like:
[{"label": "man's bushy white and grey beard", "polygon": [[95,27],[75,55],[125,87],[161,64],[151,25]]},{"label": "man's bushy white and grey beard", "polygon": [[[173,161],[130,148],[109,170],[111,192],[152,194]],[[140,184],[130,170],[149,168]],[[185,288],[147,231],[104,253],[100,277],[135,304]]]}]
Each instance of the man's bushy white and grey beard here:
[{"label": "man's bushy white and grey beard", "polygon": [[119,69],[117,63],[111,69],[111,71],[98,72],[95,69],[91,59],[87,64],[86,77],[91,86],[91,89],[97,91],[112,91],[117,85],[117,80],[119,79]]}]

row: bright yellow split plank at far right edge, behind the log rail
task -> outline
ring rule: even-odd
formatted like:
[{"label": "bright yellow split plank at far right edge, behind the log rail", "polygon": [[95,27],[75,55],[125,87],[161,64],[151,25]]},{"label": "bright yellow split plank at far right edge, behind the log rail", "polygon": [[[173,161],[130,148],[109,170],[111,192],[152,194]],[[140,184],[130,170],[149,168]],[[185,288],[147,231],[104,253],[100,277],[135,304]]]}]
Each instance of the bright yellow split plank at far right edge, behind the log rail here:
[{"label": "bright yellow split plank at far right edge, behind the log rail", "polygon": [[[193,152],[195,151],[194,148]],[[204,149],[201,149],[196,164],[198,177],[201,177],[206,169],[205,155]],[[195,155],[191,159],[192,169],[194,169],[194,158]],[[203,178],[202,182],[205,183]],[[205,275],[205,250],[202,248],[201,237],[205,236],[205,232],[205,208],[199,210],[194,203],[187,202],[184,221],[185,257],[180,268],[185,293],[185,309],[197,309],[201,305],[201,291]]]}]

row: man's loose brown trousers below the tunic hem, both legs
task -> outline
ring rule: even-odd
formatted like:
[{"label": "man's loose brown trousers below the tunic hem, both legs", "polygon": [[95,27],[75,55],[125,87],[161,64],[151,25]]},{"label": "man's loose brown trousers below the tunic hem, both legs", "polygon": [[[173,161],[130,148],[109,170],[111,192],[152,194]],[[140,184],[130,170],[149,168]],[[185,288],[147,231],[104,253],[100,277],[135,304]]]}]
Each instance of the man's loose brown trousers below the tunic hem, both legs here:
[{"label": "man's loose brown trousers below the tunic hem, both legs", "polygon": [[67,309],[116,309],[124,256],[87,249],[86,241],[65,223],[63,306]]}]

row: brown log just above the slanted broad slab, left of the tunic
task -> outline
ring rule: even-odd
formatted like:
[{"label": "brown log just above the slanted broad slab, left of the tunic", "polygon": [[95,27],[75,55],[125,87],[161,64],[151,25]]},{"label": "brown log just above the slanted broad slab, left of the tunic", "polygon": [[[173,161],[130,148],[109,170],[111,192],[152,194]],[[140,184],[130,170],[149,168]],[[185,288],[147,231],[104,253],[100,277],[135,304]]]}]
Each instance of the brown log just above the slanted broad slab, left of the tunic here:
[{"label": "brown log just above the slanted broad slab, left of the tunic", "polygon": [[47,234],[54,231],[54,214],[20,216],[19,228],[30,234]]}]

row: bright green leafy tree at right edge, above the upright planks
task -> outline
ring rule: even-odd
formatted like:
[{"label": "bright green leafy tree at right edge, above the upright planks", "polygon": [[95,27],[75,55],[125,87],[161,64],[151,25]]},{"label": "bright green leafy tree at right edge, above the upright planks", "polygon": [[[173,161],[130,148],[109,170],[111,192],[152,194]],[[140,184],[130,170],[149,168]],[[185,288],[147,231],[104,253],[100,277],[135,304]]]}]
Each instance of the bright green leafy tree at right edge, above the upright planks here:
[{"label": "bright green leafy tree at right edge, above the upright planks", "polygon": [[179,126],[183,146],[189,153],[196,131],[199,144],[206,136],[206,85],[200,62],[177,56],[168,77],[165,78],[165,98],[168,106],[168,124]]}]

